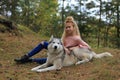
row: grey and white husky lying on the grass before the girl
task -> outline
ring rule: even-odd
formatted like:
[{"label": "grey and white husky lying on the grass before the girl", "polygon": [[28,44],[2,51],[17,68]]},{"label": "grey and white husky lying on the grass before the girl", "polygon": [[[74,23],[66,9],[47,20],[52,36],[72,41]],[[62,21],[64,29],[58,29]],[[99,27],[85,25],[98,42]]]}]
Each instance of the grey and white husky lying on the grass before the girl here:
[{"label": "grey and white husky lying on the grass before the girl", "polygon": [[[32,68],[32,71],[45,72],[50,70],[60,70],[63,66],[78,65],[90,61],[92,58],[102,58],[104,56],[111,56],[111,53],[104,52],[96,54],[85,48],[76,47],[71,51],[71,54],[66,54],[62,42],[58,38],[51,36],[48,45],[46,63]],[[50,66],[52,65],[52,66]]]}]

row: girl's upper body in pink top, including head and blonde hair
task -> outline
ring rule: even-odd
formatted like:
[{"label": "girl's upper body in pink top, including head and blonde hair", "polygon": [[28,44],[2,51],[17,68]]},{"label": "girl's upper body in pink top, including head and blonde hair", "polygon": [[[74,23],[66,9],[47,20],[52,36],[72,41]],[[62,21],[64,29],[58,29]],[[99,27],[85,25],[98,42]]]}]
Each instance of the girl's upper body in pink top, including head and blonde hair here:
[{"label": "girl's upper body in pink top, including head and blonde hair", "polygon": [[81,39],[78,26],[72,16],[68,16],[65,20],[62,41],[65,47],[65,51],[68,54],[70,54],[70,50],[72,50],[74,47],[91,49],[90,46]]}]

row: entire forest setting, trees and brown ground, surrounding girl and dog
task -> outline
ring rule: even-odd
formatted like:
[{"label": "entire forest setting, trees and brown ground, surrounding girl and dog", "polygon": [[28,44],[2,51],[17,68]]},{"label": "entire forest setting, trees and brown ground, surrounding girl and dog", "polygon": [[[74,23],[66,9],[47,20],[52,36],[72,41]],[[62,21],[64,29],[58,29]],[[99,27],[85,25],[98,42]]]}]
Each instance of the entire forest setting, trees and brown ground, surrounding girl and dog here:
[{"label": "entire forest setting, trees and brown ground, surrounding girl and dog", "polygon": [[[67,16],[93,51],[113,57],[45,73],[31,71],[37,63],[15,63],[51,35],[60,38]],[[0,0],[0,80],[120,80],[120,0]]]}]

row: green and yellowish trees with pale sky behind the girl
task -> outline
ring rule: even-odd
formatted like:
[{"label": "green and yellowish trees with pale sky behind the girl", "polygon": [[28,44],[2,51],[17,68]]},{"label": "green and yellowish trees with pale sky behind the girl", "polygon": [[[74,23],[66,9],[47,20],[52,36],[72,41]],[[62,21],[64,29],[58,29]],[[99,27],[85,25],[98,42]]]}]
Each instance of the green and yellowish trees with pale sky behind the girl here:
[{"label": "green and yellowish trees with pale sky behind the girl", "polygon": [[0,0],[0,15],[48,37],[61,37],[70,15],[91,46],[120,48],[119,0]]}]

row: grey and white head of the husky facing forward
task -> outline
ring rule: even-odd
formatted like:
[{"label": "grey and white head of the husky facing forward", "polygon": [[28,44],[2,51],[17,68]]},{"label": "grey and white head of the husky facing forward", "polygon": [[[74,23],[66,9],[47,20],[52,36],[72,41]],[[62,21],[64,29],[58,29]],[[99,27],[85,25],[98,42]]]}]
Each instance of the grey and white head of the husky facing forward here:
[{"label": "grey and white head of the husky facing forward", "polygon": [[52,54],[63,51],[63,45],[61,39],[54,38],[53,36],[51,36],[49,40],[48,51],[49,53]]}]

